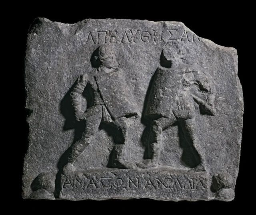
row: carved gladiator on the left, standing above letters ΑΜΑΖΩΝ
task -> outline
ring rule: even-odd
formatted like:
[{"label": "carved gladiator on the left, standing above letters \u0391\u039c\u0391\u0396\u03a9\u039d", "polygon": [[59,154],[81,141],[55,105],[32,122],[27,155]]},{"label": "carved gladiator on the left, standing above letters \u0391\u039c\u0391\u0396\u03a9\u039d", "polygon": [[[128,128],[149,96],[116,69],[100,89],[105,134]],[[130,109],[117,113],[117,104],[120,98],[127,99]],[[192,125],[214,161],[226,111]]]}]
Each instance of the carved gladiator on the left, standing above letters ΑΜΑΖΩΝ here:
[{"label": "carved gladiator on the left, standing above letters \u0391\u039c\u0391\u0396\u03a9\u039d", "polygon": [[[70,93],[76,120],[85,123],[80,140],[70,146],[68,161],[63,171],[74,171],[74,161],[85,150],[98,132],[101,123],[112,126],[119,135],[112,150],[111,168],[135,168],[123,159],[128,129],[138,116],[135,99],[126,84],[113,45],[102,45],[92,56],[96,69],[90,75],[80,75]],[[88,95],[86,111],[81,108],[81,95]]]}]

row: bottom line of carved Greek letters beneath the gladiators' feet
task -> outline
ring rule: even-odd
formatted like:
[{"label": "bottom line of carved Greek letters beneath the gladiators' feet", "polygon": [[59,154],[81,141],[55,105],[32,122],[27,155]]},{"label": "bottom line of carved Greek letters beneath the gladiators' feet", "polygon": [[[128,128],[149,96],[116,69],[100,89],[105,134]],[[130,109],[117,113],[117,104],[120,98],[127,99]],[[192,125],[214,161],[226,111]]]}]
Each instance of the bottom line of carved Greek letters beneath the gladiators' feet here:
[{"label": "bottom line of carved Greek letters beneath the gladiators' feet", "polygon": [[126,188],[126,189],[206,189],[204,179],[190,178],[184,176],[162,177],[162,178],[130,178],[130,177],[66,177],[62,183],[63,189],[98,189],[98,188]]}]

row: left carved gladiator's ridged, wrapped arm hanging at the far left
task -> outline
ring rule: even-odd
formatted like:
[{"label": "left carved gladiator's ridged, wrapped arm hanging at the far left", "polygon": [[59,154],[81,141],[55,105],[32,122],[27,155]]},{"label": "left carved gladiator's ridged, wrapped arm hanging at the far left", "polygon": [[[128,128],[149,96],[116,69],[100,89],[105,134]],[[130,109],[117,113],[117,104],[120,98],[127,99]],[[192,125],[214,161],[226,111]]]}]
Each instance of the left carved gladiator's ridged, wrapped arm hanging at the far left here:
[{"label": "left carved gladiator's ridged, wrapped arm hanging at the far left", "polygon": [[74,108],[74,114],[75,114],[76,120],[78,120],[78,121],[81,120],[81,116],[83,114],[83,111],[81,110],[81,107],[80,107],[81,95],[82,95],[87,83],[88,83],[87,76],[80,75],[78,77],[78,79],[76,80],[74,88],[72,89],[72,91],[70,93],[71,103]]}]

